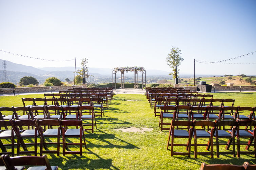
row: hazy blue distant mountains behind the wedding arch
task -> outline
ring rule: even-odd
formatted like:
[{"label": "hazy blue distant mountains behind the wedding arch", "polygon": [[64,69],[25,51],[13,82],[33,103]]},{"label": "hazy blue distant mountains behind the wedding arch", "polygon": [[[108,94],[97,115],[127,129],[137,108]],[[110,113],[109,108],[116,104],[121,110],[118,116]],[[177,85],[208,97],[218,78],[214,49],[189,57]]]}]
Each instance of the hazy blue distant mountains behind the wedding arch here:
[{"label": "hazy blue distant mountains behind the wedding arch", "polygon": [[[4,60],[0,59],[0,64],[3,63]],[[65,81],[66,78],[71,81],[74,80],[74,71],[75,67],[44,67],[44,68],[35,68],[32,66],[25,66],[21,64],[16,64],[6,60],[6,72],[7,72],[7,81],[12,82],[14,84],[18,84],[20,79],[24,76],[32,76],[35,77],[39,84],[43,84],[46,78],[48,77],[57,77],[61,81]],[[3,67],[1,67],[3,68]],[[76,70],[81,69],[80,67],[76,68]],[[112,69],[110,68],[88,68],[88,74],[92,75],[90,77],[89,82],[101,83],[101,82],[112,82]],[[140,73],[139,73],[140,74]],[[127,72],[124,73],[125,77],[127,77],[127,81],[131,79],[134,81],[134,73]],[[160,70],[146,70],[146,77],[159,77],[165,79],[171,79],[169,72],[160,71]],[[116,74],[116,77],[120,77],[120,73]],[[130,78],[129,78],[130,77]],[[141,77],[141,75],[139,75]],[[0,70],[0,81],[3,81],[3,69]],[[126,79],[125,79],[126,81]]]}]

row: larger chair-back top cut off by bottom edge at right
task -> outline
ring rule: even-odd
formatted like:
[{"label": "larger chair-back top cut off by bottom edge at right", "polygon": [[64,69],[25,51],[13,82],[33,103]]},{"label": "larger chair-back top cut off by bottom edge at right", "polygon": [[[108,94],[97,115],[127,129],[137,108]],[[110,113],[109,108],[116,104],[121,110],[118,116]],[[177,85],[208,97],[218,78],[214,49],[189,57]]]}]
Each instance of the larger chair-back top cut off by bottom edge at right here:
[{"label": "larger chair-back top cut off by bottom edge at right", "polygon": [[231,165],[231,164],[206,165],[203,162],[201,164],[200,170],[245,170],[245,168],[242,165]]}]

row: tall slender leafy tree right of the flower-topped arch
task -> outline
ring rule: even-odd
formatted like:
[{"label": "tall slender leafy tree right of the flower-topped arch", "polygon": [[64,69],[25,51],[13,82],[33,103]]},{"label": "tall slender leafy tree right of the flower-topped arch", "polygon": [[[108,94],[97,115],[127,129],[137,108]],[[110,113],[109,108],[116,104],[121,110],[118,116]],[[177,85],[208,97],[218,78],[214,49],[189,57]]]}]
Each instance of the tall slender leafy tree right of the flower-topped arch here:
[{"label": "tall slender leafy tree right of the flower-topped arch", "polygon": [[[181,50],[179,50],[179,48],[173,47],[171,49],[170,54],[168,54],[168,56],[166,57],[167,65],[170,66],[170,68],[173,71],[173,73],[169,73],[169,75],[173,75],[173,78],[178,78],[179,69],[176,69],[176,67],[178,67],[181,64],[181,62],[184,60],[180,56],[180,54],[182,54]],[[176,73],[177,73],[177,77],[176,77]]]}]

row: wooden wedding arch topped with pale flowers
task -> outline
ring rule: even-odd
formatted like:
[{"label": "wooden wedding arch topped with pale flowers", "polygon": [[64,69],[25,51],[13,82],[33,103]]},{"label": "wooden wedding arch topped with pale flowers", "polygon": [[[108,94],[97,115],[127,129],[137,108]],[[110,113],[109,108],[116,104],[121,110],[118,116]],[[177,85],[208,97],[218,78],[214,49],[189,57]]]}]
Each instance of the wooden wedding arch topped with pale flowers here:
[{"label": "wooden wedding arch topped with pale flowers", "polygon": [[[134,71],[134,89],[138,89],[138,72],[142,72],[142,90],[146,87],[146,70],[144,67],[116,67],[112,70],[112,87],[116,89],[116,73],[121,72],[121,89],[124,89],[124,72]],[[115,82],[114,82],[115,76]],[[115,86],[114,86],[115,84]]]}]

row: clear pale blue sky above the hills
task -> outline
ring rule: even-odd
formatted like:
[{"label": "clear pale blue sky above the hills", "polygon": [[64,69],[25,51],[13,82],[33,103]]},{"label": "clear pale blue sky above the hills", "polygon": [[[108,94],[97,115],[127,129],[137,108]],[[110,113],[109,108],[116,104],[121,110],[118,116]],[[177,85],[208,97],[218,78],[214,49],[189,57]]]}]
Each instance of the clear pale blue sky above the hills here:
[{"label": "clear pale blue sky above the hills", "polygon": [[[255,0],[0,0],[0,58],[33,67],[74,66],[47,60],[88,59],[88,67],[138,66],[180,73],[194,59],[217,62],[256,51]],[[225,62],[227,63],[227,62]],[[230,63],[195,63],[196,74],[256,75],[256,52]],[[8,69],[8,66],[7,66]],[[89,70],[90,71],[90,70]]]}]

